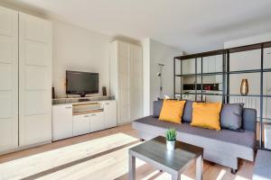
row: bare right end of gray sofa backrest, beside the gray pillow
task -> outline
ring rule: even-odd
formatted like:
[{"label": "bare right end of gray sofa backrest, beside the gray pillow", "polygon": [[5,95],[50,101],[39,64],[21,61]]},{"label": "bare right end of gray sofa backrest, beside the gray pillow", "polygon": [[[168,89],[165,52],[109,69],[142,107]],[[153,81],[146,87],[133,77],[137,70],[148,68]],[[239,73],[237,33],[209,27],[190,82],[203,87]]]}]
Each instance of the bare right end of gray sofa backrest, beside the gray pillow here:
[{"label": "bare right end of gray sofa backrest, beside the gray pillow", "polygon": [[256,131],[257,111],[255,109],[243,109],[243,129]]}]

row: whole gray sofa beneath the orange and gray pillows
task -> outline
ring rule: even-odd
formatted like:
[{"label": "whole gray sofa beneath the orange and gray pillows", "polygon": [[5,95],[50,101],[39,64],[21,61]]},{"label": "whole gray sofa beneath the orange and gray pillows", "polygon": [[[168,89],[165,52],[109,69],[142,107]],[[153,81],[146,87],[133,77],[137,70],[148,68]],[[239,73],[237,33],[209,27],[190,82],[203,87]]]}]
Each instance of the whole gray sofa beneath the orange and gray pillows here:
[{"label": "whole gray sofa beneath the orange and gray pillows", "polygon": [[[161,107],[154,105],[154,112],[160,112]],[[184,111],[192,111],[186,110]],[[186,113],[186,112],[183,112]],[[182,124],[159,121],[157,117],[147,116],[133,121],[141,139],[153,139],[164,136],[165,130],[175,128],[177,139],[204,148],[203,157],[211,162],[229,166],[232,173],[238,170],[238,158],[254,161],[256,148],[257,112],[254,109],[243,109],[243,130],[209,130],[197,128],[188,122]]]}]

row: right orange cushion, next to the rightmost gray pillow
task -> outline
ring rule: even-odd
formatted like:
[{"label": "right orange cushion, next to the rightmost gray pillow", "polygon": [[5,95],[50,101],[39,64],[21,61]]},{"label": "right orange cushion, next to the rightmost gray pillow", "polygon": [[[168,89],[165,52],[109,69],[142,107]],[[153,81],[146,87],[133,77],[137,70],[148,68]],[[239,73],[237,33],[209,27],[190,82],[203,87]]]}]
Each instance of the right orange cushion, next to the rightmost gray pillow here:
[{"label": "right orange cushion, next to the rightmost gray pillow", "polygon": [[193,103],[192,126],[220,130],[222,103]]}]

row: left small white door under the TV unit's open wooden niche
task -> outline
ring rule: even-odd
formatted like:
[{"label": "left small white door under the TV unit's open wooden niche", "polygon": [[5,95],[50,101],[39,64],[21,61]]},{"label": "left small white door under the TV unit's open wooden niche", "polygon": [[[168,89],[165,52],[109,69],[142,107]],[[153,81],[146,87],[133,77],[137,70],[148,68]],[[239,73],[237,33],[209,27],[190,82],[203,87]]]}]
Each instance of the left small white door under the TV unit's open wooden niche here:
[{"label": "left small white door under the TV unit's open wooden niche", "polygon": [[90,115],[74,115],[73,116],[73,136],[86,134],[90,132]]}]

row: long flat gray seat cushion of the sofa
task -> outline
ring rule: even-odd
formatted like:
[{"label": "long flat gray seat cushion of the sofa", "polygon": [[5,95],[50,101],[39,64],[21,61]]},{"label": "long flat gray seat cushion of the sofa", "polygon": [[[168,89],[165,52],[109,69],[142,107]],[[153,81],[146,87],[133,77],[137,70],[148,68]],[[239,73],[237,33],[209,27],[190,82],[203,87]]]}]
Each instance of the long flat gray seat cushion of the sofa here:
[{"label": "long flat gray seat cushion of the sofa", "polygon": [[135,122],[140,122],[152,126],[161,127],[164,129],[175,128],[177,131],[197,135],[204,138],[209,139],[217,139],[241,146],[245,146],[248,148],[255,148],[256,145],[256,137],[255,132],[251,130],[244,130],[244,132],[238,132],[233,130],[209,130],[205,128],[197,128],[191,126],[187,122],[183,122],[182,124],[177,124],[168,121],[158,121],[157,118],[152,116],[147,116],[145,118],[136,120]]}]

